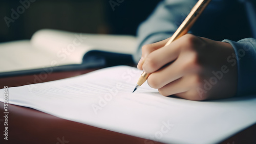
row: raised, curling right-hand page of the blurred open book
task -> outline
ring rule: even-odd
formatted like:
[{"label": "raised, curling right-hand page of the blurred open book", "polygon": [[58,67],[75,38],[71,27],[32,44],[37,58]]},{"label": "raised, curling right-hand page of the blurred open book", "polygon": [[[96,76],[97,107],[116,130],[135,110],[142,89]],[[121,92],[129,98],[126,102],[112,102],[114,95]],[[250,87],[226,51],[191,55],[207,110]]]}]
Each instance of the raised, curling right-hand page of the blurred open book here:
[{"label": "raised, curling right-hand page of the blurred open book", "polygon": [[91,50],[130,55],[136,51],[134,36],[83,34],[49,29],[36,32],[31,43],[37,49],[75,63],[82,63],[83,55]]}]

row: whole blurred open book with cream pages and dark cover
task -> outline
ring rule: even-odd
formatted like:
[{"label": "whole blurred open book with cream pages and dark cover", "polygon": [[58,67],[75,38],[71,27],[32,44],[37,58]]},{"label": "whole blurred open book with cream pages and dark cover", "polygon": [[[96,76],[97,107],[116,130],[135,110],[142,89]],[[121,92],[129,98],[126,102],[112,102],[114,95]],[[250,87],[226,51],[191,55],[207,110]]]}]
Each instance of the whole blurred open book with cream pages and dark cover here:
[{"label": "whole blurred open book with cream pages and dark cover", "polygon": [[131,63],[135,49],[134,36],[40,30],[31,40],[0,44],[0,76],[47,67],[76,69]]}]

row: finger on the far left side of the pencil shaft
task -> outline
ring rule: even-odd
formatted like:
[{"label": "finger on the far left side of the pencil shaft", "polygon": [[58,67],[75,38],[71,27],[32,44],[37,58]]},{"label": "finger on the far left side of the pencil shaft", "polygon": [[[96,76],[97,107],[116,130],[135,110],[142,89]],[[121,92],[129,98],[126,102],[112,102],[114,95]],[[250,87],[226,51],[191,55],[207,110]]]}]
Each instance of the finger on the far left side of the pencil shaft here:
[{"label": "finger on the far left side of the pencil shaft", "polygon": [[141,59],[137,65],[138,69],[142,70],[142,65],[143,65],[144,60],[148,54],[163,47],[167,43],[168,40],[169,40],[169,38],[159,41],[159,42],[156,42],[156,43],[143,45],[141,48],[141,50],[142,50]]}]

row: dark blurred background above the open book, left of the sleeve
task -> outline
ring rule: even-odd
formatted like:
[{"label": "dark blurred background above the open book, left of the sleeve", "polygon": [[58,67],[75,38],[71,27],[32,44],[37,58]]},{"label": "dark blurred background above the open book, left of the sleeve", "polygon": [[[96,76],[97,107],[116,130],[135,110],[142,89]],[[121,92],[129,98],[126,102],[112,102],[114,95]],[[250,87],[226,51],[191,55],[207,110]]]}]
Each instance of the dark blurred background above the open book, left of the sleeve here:
[{"label": "dark blurred background above the open book, left of the sleeve", "polygon": [[33,33],[46,28],[136,35],[139,23],[151,14],[159,1],[1,0],[0,42],[30,39]]}]

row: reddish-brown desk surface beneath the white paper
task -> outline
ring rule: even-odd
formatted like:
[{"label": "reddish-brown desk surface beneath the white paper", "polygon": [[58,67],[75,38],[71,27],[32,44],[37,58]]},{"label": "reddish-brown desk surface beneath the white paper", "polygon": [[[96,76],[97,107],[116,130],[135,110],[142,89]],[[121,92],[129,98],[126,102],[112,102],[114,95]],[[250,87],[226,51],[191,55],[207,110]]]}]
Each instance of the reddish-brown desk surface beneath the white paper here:
[{"label": "reddish-brown desk surface beneath the white paper", "polygon": [[[51,73],[42,82],[74,77],[95,69]],[[0,78],[0,87],[34,83],[35,76]],[[0,96],[2,97],[2,96]],[[10,93],[11,97],[11,93]],[[31,108],[8,105],[8,141],[4,140],[4,104],[0,103],[0,143],[159,143],[58,118]],[[221,143],[256,143],[256,124]]]}]

